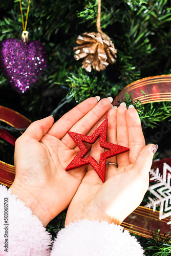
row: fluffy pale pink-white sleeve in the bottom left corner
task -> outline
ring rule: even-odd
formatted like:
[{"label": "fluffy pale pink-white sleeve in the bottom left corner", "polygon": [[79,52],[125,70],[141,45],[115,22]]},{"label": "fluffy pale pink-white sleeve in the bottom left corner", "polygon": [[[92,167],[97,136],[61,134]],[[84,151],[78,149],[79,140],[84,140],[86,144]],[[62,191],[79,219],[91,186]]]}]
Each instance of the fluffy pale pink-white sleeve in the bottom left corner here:
[{"label": "fluffy pale pink-white sleeve in the bottom left corner", "polygon": [[[8,225],[4,221],[4,198],[8,198]],[[8,240],[6,244],[5,239]],[[32,215],[31,209],[11,195],[10,189],[0,185],[0,255],[49,256],[50,244],[50,234]],[[8,253],[5,251],[7,247]]]}]

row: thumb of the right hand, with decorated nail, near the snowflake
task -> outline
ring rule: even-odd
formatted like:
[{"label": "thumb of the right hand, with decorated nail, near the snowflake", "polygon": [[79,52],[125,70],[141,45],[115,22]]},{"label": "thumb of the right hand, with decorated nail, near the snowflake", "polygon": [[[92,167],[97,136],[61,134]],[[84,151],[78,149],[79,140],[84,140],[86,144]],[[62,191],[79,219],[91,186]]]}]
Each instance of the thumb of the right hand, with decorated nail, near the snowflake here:
[{"label": "thumb of the right hand, with decorated nail, near the snowflake", "polygon": [[153,156],[158,149],[158,145],[148,144],[142,148],[139,152],[137,160],[133,165],[133,169],[136,170],[144,179],[146,179],[149,170],[151,169]]}]

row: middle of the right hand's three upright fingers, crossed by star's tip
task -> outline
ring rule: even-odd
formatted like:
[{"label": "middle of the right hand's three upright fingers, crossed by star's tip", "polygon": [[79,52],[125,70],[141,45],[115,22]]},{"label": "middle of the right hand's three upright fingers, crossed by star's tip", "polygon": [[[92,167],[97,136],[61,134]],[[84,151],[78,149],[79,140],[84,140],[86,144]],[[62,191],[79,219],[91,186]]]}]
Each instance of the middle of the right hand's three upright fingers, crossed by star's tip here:
[{"label": "middle of the right hand's three upright fingers, crossed by star's tip", "polygon": [[[126,104],[123,102],[117,108],[117,144],[129,147],[129,134],[126,123]],[[127,166],[130,164],[129,152],[117,155],[118,166]]]}]

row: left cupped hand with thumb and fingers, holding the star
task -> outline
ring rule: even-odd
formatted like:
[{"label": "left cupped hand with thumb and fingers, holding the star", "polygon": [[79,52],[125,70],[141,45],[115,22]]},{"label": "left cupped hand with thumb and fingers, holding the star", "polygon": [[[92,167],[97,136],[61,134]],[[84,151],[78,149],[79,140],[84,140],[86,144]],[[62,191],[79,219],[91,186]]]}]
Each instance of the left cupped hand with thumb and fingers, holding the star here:
[{"label": "left cupped hand with thumb and fingers, holding the star", "polygon": [[89,98],[55,124],[52,116],[33,122],[16,140],[16,175],[10,189],[44,226],[68,207],[86,173],[84,166],[65,170],[79,152],[67,131],[89,134],[110,107],[109,99],[97,103],[96,98]]}]

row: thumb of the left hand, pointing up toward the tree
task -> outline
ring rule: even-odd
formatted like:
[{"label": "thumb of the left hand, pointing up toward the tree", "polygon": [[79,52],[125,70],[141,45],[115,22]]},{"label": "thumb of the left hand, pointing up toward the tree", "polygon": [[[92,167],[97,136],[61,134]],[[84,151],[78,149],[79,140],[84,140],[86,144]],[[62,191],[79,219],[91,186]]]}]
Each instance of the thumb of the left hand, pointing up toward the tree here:
[{"label": "thumb of the left hand, pointing up toward the tree", "polygon": [[52,127],[54,119],[52,116],[48,116],[44,119],[35,121],[29,125],[27,130],[18,139],[35,139],[39,141],[42,136],[47,134],[49,129]]}]

